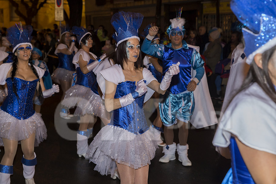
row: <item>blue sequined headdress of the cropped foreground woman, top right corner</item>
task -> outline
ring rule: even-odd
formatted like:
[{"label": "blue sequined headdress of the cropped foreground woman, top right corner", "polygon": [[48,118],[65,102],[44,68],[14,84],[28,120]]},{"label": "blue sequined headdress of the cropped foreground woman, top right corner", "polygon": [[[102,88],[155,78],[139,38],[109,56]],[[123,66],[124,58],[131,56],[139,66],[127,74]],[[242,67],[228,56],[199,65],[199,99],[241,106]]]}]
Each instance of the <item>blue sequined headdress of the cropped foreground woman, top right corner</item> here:
[{"label": "blue sequined headdress of the cropped foreground woman, top right corner", "polygon": [[233,0],[230,4],[242,28],[245,41],[246,62],[254,56],[276,45],[276,1],[275,0]]}]

